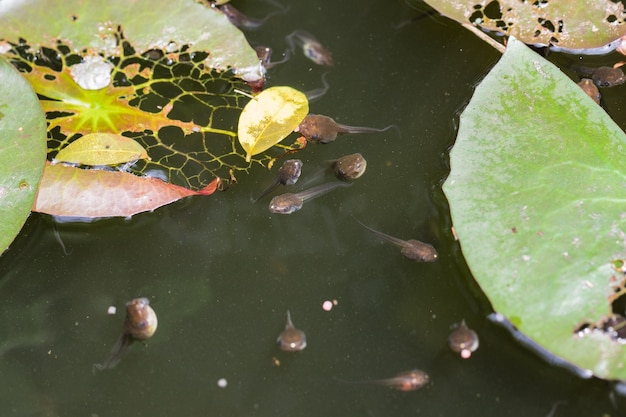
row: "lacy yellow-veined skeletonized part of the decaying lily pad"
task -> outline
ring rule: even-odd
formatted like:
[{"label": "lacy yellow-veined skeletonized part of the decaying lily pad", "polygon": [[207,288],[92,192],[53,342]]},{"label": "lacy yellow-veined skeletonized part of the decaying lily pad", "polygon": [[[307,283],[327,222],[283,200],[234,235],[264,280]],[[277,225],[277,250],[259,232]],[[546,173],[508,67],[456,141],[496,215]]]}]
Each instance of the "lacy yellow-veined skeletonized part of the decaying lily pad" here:
[{"label": "lacy yellow-veined skeletonized part of the decaying lily pad", "polygon": [[[243,81],[206,67],[208,51],[188,45],[136,51],[121,28],[114,39],[119,56],[99,53],[112,67],[111,84],[100,90],[83,90],[70,76],[83,56],[98,51],[76,53],[60,39],[39,49],[25,39],[9,43],[5,56],[31,83],[46,112],[49,160],[78,137],[102,132],[131,137],[146,149],[151,160],[136,163],[133,173],[162,172],[171,183],[194,190],[215,177],[249,170],[252,162],[245,162],[236,135],[248,99],[234,90],[245,90]],[[254,162],[293,149],[295,144],[277,145]]]}]

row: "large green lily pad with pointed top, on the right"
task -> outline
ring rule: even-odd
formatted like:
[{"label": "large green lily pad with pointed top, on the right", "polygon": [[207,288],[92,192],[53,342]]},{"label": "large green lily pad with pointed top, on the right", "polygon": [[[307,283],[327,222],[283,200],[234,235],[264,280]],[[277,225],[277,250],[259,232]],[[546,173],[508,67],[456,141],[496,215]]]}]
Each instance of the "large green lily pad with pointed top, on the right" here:
[{"label": "large green lily pad with pointed top, on the right", "polygon": [[625,313],[625,149],[599,106],[511,38],[461,116],[444,184],[495,311],[602,378],[626,379],[626,344],[603,330]]}]

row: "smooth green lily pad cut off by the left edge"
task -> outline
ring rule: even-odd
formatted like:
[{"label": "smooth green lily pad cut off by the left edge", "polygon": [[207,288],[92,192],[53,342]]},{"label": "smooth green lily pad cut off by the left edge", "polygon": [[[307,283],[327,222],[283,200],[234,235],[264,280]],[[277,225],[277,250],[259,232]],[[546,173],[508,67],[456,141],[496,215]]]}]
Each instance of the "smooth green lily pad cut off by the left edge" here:
[{"label": "smooth green lily pad cut off by the left edge", "polygon": [[46,160],[46,120],[22,76],[0,59],[0,250],[30,214]]}]

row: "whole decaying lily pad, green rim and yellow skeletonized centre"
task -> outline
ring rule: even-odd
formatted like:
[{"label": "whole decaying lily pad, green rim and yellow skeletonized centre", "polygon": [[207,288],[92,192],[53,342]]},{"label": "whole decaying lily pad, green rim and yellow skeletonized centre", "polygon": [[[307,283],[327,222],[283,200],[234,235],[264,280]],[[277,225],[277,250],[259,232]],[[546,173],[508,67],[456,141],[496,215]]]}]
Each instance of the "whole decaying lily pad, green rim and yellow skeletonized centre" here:
[{"label": "whole decaying lily pad, green rim and yellow skeletonized centre", "polygon": [[[45,9],[35,0],[0,11],[0,51],[40,98],[49,161],[81,136],[123,135],[148,155],[132,173],[199,191],[279,154],[246,162],[237,144],[248,99],[235,91],[262,83],[264,69],[223,14],[183,0],[98,9],[53,0]],[[280,154],[298,147],[277,146]]]}]

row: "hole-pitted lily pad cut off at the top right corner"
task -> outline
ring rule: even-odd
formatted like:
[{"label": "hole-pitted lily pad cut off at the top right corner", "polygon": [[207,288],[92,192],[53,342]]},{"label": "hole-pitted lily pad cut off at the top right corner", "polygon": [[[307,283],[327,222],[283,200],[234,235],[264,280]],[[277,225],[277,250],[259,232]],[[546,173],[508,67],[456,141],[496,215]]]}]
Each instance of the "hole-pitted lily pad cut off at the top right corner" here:
[{"label": "hole-pitted lily pad cut off at the top right corner", "polygon": [[505,33],[528,44],[599,48],[626,34],[624,6],[611,0],[425,1],[458,22]]}]

